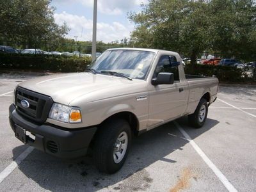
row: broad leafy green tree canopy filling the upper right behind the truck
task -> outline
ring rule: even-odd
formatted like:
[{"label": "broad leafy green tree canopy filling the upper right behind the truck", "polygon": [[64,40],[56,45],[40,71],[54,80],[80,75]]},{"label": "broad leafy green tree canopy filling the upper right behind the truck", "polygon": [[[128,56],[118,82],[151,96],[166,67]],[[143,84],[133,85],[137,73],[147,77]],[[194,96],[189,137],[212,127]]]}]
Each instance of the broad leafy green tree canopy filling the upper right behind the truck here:
[{"label": "broad leafy green tree canopy filling the upper right behind the truck", "polygon": [[253,0],[149,0],[141,13],[130,13],[136,24],[136,47],[168,49],[191,58],[204,51],[255,57],[256,10]]}]

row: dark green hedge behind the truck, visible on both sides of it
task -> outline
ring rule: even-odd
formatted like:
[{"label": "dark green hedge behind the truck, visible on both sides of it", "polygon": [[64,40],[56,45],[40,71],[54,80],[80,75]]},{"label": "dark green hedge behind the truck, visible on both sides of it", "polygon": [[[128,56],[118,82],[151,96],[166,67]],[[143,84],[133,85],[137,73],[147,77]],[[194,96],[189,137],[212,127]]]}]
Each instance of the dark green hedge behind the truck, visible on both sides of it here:
[{"label": "dark green hedge behind the truck, visible on both sides of it", "polygon": [[[52,55],[29,55],[29,54],[4,54],[0,52],[0,69],[29,70],[50,72],[83,72],[91,58],[77,56],[52,56]],[[216,76],[220,82],[243,83],[253,82],[245,72],[236,67],[214,65],[186,65],[186,74],[199,76]]]}]

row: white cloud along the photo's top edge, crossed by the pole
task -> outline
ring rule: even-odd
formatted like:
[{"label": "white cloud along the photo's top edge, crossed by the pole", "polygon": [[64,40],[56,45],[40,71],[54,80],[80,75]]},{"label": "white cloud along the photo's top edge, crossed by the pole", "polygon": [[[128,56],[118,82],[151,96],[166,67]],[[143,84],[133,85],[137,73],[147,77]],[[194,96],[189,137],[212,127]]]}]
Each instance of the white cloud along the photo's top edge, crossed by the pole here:
[{"label": "white cloud along the photo's top edge, crossed by the pole", "polygon": [[[56,3],[81,3],[86,7],[93,7],[93,0],[55,0]],[[122,15],[122,13],[131,11],[147,4],[148,0],[98,0],[97,9],[100,13],[106,15]]]}]

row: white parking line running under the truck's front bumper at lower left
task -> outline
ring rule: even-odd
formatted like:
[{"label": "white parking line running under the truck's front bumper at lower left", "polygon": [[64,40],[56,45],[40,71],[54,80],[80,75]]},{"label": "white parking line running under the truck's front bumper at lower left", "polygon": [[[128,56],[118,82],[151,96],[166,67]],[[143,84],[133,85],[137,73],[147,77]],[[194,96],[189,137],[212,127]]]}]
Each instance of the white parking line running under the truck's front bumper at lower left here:
[{"label": "white parking line running under the truck's front bumper at lower left", "polygon": [[3,172],[0,173],[0,184],[3,180],[10,175],[10,173],[15,170],[15,168],[20,164],[27,156],[33,151],[34,147],[28,147],[24,152],[22,152],[11,164],[9,164]]}]

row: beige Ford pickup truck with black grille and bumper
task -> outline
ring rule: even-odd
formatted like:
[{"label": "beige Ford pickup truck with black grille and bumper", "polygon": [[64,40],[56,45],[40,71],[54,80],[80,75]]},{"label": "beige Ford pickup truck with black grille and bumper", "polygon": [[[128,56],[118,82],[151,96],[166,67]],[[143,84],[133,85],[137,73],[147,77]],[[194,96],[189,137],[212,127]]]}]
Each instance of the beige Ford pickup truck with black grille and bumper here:
[{"label": "beige Ford pickup truck with black grille and bumper", "polygon": [[186,76],[176,52],[109,49],[87,72],[44,76],[20,83],[10,106],[15,136],[57,157],[92,148],[100,171],[118,171],[132,135],[188,115],[204,125],[218,79]]}]

